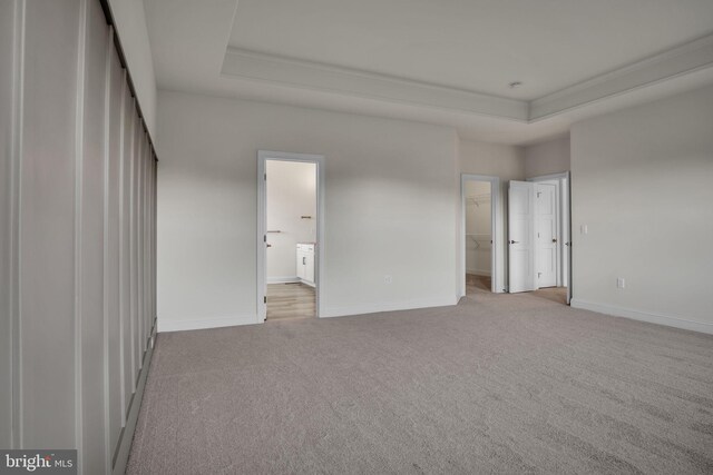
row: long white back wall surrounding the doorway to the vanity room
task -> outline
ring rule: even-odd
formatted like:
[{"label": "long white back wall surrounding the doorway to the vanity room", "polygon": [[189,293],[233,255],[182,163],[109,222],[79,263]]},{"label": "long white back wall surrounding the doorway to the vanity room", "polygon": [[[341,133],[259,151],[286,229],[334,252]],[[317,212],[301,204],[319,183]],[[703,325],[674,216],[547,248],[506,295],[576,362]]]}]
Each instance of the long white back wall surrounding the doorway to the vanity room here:
[{"label": "long white back wall surrounding the doorway to the vanity room", "polygon": [[159,330],[257,320],[258,149],[325,156],[325,316],[456,303],[453,130],[169,91],[158,105]]}]

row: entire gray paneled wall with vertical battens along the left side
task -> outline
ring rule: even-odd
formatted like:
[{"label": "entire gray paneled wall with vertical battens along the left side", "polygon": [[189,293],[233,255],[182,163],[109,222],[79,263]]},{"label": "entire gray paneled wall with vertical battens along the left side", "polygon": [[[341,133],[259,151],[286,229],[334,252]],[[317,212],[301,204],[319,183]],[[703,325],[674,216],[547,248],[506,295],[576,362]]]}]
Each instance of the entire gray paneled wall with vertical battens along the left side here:
[{"label": "entire gray paneled wall with vertical battens along the left side", "polygon": [[121,472],[155,320],[153,150],[98,0],[6,1],[0,22],[0,445]]}]

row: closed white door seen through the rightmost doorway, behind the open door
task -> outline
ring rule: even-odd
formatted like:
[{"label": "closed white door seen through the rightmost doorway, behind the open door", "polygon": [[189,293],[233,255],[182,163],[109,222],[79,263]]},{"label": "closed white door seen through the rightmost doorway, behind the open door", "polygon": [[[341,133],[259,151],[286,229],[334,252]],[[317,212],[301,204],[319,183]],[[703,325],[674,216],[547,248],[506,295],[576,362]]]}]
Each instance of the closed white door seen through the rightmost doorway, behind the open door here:
[{"label": "closed white door seen through the rightmost doorway, behind the open door", "polygon": [[559,269],[559,241],[558,235],[558,184],[535,184],[537,250],[535,261],[537,274],[535,284],[537,287],[556,287],[557,271]]}]

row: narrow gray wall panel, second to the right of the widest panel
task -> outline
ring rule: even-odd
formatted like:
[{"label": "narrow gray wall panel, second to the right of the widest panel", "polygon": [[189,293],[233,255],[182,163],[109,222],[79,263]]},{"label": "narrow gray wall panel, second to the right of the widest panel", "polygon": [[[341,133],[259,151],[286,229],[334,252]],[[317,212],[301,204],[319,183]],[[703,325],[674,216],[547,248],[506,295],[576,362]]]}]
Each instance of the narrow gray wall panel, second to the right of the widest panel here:
[{"label": "narrow gray wall panel, second to the right of the widest panel", "polygon": [[108,155],[106,166],[106,200],[105,200],[105,311],[107,321],[107,387],[108,393],[108,431],[109,454],[118,443],[123,426],[121,394],[124,392],[121,374],[121,318],[120,318],[120,186],[121,186],[121,127],[124,107],[124,69],[116,49],[109,49],[108,71]]}]

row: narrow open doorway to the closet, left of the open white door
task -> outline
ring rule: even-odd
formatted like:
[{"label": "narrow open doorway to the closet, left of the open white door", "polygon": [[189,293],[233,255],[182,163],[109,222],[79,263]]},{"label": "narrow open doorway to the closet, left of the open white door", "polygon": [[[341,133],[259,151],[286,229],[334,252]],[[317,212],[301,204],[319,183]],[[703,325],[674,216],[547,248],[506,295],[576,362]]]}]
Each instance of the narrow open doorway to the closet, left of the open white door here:
[{"label": "narrow open doorway to the closet, left of the open white door", "polygon": [[498,177],[462,175],[462,287],[461,295],[497,293],[502,288],[498,268]]}]

